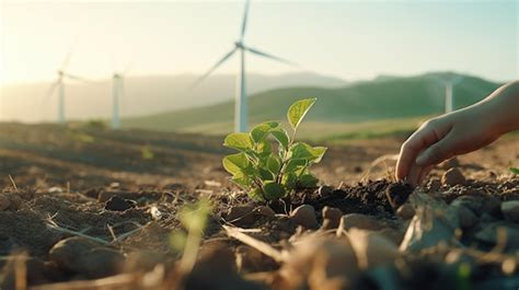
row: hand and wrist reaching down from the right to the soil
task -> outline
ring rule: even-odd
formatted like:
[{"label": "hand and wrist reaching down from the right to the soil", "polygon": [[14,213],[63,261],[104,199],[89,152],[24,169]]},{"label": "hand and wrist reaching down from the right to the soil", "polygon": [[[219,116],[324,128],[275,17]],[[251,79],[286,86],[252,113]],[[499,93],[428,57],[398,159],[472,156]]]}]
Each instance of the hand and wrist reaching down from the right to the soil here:
[{"label": "hand and wrist reaching down from the right to the soil", "polygon": [[426,121],[402,146],[396,178],[422,183],[434,165],[489,144],[518,128],[518,82],[470,107]]}]

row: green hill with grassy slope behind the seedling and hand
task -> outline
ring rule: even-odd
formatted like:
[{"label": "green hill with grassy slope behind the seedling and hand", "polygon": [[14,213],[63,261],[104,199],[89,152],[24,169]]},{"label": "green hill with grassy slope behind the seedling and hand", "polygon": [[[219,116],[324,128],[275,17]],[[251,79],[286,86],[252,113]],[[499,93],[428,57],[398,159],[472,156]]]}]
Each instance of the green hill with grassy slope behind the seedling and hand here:
[{"label": "green hill with grassy slope behind the seedling and hand", "polygon": [[[318,103],[307,116],[307,121],[320,124],[322,128],[336,128],[336,130],[327,128],[331,135],[344,134],[341,128],[345,123],[366,126],[367,123],[377,121],[379,126],[383,126],[388,121],[382,120],[407,118],[416,120],[419,116],[438,115],[443,111],[445,89],[437,78],[447,78],[448,74],[451,76],[441,72],[410,78],[379,78],[338,89],[270,90],[249,97],[250,124],[285,119],[285,113],[292,102],[309,96],[318,97]],[[498,85],[476,77],[464,76],[454,86],[454,106],[459,108],[473,104]],[[224,102],[206,107],[128,118],[124,119],[124,125],[162,131],[222,134],[232,130],[233,109],[233,102]]]}]

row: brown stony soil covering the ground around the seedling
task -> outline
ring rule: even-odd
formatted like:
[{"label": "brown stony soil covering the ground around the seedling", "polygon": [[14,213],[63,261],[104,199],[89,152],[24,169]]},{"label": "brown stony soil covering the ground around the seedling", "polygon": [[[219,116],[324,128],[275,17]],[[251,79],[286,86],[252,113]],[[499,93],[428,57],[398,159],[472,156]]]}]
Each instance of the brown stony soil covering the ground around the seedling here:
[{"label": "brown stony soil covering the ground around the seedling", "polygon": [[[519,164],[519,138],[438,166],[417,189],[392,179],[404,139],[326,144],[314,170],[322,186],[270,204],[270,212],[228,181],[220,162],[229,152],[219,137],[1,124],[0,289],[20,286],[20,277],[41,287],[34,289],[518,289],[519,206],[508,201],[519,200],[519,178],[507,169]],[[463,181],[445,181],[452,167]],[[425,206],[413,193],[442,204]],[[199,259],[186,274],[171,234],[185,232],[181,208],[203,197],[212,213]],[[412,236],[419,217],[440,230]],[[443,239],[447,225],[437,219],[453,225],[452,236]],[[233,235],[235,227],[242,230]],[[372,235],[358,229],[383,240],[366,265],[354,240]],[[244,242],[243,234],[272,250]],[[344,235],[359,263],[355,271],[325,258],[344,254],[336,244]],[[299,251],[309,239],[321,247]],[[302,252],[323,258],[309,260]],[[310,268],[293,268],[300,259]],[[155,283],[139,285],[142,275]],[[109,277],[120,285],[71,285]]]}]

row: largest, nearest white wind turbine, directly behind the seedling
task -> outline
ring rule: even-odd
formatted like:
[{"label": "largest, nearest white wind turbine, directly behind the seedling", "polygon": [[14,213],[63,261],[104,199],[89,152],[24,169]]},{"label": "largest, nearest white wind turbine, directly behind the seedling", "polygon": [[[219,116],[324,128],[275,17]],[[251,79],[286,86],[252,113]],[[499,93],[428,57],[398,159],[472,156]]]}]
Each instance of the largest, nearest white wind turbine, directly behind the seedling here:
[{"label": "largest, nearest white wind turbine, directly behind the seedling", "polygon": [[205,80],[209,74],[212,73],[220,65],[226,62],[234,53],[240,54],[240,71],[238,72],[237,78],[237,91],[235,91],[235,101],[234,101],[234,131],[243,132],[246,130],[247,127],[247,105],[246,105],[246,89],[245,89],[245,51],[249,51],[253,55],[262,56],[265,58],[274,59],[279,62],[284,62],[287,65],[296,65],[291,61],[286,59],[273,56],[270,54],[263,53],[258,49],[252,48],[244,43],[244,36],[246,31],[247,24],[247,16],[249,16],[249,5],[250,0],[245,2],[245,10],[243,13],[243,21],[242,21],[242,28],[240,38],[234,42],[234,48],[232,48],[229,53],[227,53],[220,60],[218,60],[205,74],[203,74],[194,84],[197,85],[199,82]]}]

